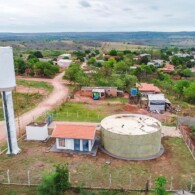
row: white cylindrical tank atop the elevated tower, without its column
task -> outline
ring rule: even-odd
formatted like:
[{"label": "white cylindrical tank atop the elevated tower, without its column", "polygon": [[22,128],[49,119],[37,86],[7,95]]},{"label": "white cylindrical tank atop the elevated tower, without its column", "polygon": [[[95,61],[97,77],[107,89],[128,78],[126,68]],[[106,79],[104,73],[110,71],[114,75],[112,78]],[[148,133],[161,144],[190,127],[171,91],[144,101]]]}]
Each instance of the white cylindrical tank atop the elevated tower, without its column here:
[{"label": "white cylindrical tank atop the elevated tower, without its column", "polygon": [[16,86],[13,51],[0,47],[0,91],[10,91]]}]

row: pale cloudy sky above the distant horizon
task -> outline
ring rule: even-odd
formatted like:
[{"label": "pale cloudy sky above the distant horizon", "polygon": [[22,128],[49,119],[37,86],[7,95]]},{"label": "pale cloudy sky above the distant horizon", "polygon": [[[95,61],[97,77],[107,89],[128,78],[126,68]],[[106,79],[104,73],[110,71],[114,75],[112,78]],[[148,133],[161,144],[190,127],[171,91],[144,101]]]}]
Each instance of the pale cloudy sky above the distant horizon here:
[{"label": "pale cloudy sky above the distant horizon", "polygon": [[0,0],[0,32],[195,31],[194,0]]}]

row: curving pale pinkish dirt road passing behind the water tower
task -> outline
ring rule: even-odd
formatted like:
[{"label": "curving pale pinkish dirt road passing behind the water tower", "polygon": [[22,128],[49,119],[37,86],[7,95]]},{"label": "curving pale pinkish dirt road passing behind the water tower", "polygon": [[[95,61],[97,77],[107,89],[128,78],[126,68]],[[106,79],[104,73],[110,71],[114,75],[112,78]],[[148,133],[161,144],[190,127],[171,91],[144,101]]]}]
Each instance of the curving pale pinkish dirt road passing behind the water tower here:
[{"label": "curving pale pinkish dirt road passing behind the water tower", "polygon": [[[32,122],[33,119],[39,117],[43,113],[57,107],[64,100],[66,100],[68,95],[68,88],[64,85],[64,81],[62,80],[64,73],[60,73],[54,79],[39,79],[39,78],[22,78],[23,80],[34,80],[34,81],[44,81],[51,83],[54,87],[53,92],[44,99],[40,104],[37,105],[33,110],[24,113],[19,118],[20,129],[22,131],[25,130],[25,127],[28,123]],[[18,120],[16,119],[17,132],[19,132],[18,128]],[[6,130],[5,130],[5,122],[0,122],[0,142],[6,139]]]}]

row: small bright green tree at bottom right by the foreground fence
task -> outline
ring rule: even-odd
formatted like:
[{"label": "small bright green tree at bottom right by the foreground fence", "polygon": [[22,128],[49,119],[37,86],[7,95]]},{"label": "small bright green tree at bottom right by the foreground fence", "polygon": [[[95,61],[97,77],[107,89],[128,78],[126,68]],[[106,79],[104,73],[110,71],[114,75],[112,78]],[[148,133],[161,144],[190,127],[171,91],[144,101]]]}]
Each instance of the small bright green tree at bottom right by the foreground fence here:
[{"label": "small bright green tree at bottom right by the foreground fence", "polygon": [[154,188],[155,195],[167,195],[168,194],[165,189],[166,183],[167,183],[167,180],[163,176],[160,176],[156,179],[155,188]]}]

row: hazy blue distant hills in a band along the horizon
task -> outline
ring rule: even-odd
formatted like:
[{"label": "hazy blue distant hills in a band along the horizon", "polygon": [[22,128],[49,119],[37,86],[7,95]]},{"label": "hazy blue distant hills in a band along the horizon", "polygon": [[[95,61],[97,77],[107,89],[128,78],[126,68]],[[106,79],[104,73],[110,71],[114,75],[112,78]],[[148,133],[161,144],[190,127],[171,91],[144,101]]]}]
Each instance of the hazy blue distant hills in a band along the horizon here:
[{"label": "hazy blue distant hills in a band along the horizon", "polygon": [[152,46],[195,45],[195,32],[62,32],[0,33],[0,41],[94,40]]}]

